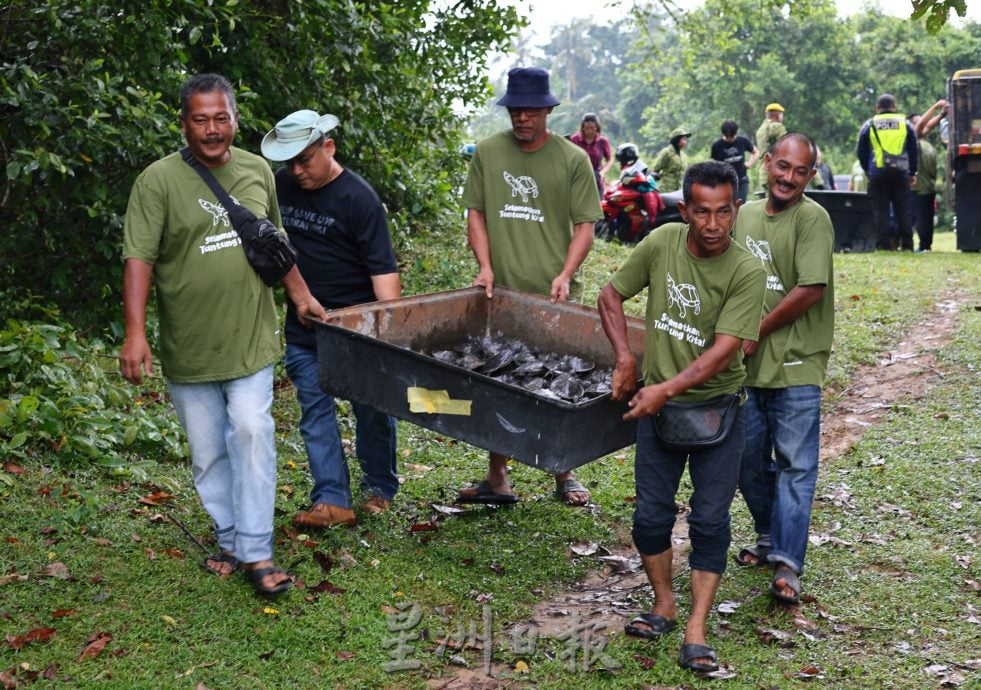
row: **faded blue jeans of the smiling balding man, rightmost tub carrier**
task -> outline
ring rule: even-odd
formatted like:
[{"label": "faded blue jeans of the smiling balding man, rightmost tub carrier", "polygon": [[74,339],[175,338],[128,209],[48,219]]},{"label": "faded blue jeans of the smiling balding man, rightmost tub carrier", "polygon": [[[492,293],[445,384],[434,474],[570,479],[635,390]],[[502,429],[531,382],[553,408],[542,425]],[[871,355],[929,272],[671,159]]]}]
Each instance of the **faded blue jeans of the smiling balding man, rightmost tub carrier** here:
[{"label": "faded blue jeans of the smiling balding man, rightmost tub carrier", "polygon": [[739,490],[771,563],[800,573],[817,484],[821,388],[748,388]]}]

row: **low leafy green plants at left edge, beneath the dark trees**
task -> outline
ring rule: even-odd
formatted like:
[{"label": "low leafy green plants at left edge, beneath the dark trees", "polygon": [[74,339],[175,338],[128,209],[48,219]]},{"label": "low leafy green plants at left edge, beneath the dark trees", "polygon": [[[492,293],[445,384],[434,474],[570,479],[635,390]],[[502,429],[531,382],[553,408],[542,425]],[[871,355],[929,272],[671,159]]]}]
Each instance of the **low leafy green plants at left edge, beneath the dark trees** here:
[{"label": "low leafy green plants at left edge, beneath the dark trees", "polygon": [[170,406],[106,373],[99,361],[108,358],[101,342],[81,341],[61,321],[8,319],[0,330],[0,457],[137,477],[153,459],[184,457]]}]

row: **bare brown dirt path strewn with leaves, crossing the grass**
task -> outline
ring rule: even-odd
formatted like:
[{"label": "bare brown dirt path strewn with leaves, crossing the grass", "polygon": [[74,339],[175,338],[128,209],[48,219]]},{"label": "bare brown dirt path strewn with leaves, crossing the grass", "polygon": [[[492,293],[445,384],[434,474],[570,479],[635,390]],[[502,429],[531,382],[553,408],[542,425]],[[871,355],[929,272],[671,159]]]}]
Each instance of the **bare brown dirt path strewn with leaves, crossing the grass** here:
[{"label": "bare brown dirt path strewn with leaves, crossing the grass", "polygon": [[[928,386],[943,378],[936,366],[936,352],[950,341],[961,306],[953,291],[942,294],[894,350],[882,353],[876,364],[857,370],[845,390],[828,393],[832,409],[821,420],[821,462],[847,453],[891,407],[922,398]],[[619,543],[599,547],[592,556],[600,559],[599,570],[586,575],[572,590],[537,604],[531,618],[514,627],[533,625],[542,637],[554,637],[569,629],[573,617],[580,616],[597,631],[620,631],[627,616],[636,614],[650,600],[650,586],[628,530],[629,526],[625,527]],[[687,568],[688,523],[684,513],[675,526],[673,541],[672,570],[677,577]],[[505,670],[495,664],[492,673]],[[434,679],[430,687],[482,690],[507,684],[488,678],[481,668],[473,668],[460,669],[454,678]]]}]

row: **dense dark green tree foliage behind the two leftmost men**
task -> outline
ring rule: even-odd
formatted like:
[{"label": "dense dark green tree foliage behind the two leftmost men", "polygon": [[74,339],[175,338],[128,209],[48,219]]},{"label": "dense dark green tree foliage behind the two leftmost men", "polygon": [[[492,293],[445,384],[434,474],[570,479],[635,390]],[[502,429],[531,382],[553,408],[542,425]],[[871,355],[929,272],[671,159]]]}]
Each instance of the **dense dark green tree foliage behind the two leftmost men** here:
[{"label": "dense dark green tree foliage behind the two leftmost men", "polygon": [[249,150],[293,110],[336,114],[338,157],[376,186],[397,241],[445,222],[463,171],[455,105],[486,97],[485,56],[517,23],[497,0],[7,3],[0,280],[79,320],[118,309],[129,189],[182,144],[194,72],[232,80]]}]

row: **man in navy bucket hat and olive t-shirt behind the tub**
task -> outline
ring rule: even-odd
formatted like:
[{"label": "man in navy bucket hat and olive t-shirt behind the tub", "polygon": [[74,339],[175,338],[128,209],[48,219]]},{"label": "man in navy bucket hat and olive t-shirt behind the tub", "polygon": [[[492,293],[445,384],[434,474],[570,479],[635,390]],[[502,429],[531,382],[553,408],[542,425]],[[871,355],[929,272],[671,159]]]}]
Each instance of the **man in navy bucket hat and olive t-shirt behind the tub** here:
[{"label": "man in navy bucket hat and olive t-shirt behind the tub", "polygon": [[[548,295],[552,301],[582,295],[578,269],[593,243],[593,224],[603,217],[589,156],[549,132],[559,104],[548,72],[516,67],[508,72],[511,129],[483,139],[470,161],[463,188],[467,237],[479,272],[474,285],[490,299],[494,286]],[[547,432],[548,430],[543,430]],[[571,472],[555,476],[556,495],[585,505],[589,491]],[[462,503],[513,503],[507,457],[491,453],[487,477],[460,489]]]}]

